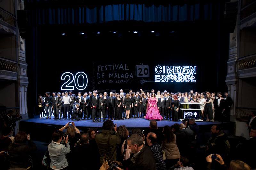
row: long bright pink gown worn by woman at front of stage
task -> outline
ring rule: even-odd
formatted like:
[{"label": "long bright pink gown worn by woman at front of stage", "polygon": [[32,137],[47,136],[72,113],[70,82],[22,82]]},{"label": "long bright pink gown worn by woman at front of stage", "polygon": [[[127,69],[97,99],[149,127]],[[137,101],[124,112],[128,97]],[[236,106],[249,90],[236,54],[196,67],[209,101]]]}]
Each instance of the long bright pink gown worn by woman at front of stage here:
[{"label": "long bright pink gown worn by woman at front of stage", "polygon": [[[148,120],[162,120],[163,117],[160,115],[159,110],[157,109],[157,100],[156,100],[156,98],[150,97],[148,99],[148,103],[150,103],[152,107],[150,105],[148,106],[148,111],[147,111],[145,119],[148,119]],[[154,105],[156,105],[156,106],[154,107]]]}]

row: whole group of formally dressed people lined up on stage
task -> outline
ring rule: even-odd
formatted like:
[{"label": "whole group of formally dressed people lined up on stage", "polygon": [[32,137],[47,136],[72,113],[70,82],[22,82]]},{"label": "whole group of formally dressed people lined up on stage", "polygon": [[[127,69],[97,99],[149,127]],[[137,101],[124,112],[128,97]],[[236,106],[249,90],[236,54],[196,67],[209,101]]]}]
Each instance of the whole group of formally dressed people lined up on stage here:
[{"label": "whole group of formally dressed people lined up on stage", "polygon": [[[222,97],[221,92],[217,92],[215,96],[214,92],[209,91],[194,93],[193,90],[189,93],[170,93],[166,90],[155,93],[154,89],[151,93],[141,89],[136,93],[129,90],[126,94],[121,89],[120,93],[110,92],[109,96],[107,92],[98,94],[97,90],[85,92],[83,96],[78,92],[76,96],[70,90],[69,94],[53,92],[52,96],[50,92],[46,92],[45,100],[39,96],[38,108],[40,119],[46,114],[46,119],[51,119],[51,115],[54,115],[54,119],[71,117],[72,120],[92,119],[93,122],[100,122],[101,118],[105,121],[106,118],[120,120],[143,117],[148,120],[178,121],[183,119],[180,108],[200,108],[200,118],[203,120],[228,121],[233,101],[227,92],[224,95]],[[192,102],[200,104],[191,104]]]}]

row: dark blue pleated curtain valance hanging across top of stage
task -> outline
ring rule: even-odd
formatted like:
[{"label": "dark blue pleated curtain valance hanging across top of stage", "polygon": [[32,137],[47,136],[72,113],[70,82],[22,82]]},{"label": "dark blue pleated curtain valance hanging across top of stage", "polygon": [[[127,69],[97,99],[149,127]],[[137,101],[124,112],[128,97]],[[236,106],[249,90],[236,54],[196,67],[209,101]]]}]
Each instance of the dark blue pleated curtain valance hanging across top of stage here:
[{"label": "dark blue pleated curtain valance hanging across top of stage", "polygon": [[[223,1],[225,2],[225,1]],[[172,22],[219,20],[223,2],[183,4],[28,5],[29,20],[36,25],[81,25],[113,21]],[[51,7],[50,7],[51,6]]]}]

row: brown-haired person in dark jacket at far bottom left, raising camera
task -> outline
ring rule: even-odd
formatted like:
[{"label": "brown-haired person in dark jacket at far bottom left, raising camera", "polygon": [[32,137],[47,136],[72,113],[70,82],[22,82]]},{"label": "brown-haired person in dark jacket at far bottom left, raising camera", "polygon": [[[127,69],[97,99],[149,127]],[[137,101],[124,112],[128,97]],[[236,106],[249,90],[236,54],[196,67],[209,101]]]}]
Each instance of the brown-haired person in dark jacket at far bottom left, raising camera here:
[{"label": "brown-haired person in dark jacket at far bottom left, raising camera", "polygon": [[14,137],[14,143],[8,147],[11,168],[31,168],[30,154],[36,151],[36,144],[30,140],[30,135],[18,132]]}]

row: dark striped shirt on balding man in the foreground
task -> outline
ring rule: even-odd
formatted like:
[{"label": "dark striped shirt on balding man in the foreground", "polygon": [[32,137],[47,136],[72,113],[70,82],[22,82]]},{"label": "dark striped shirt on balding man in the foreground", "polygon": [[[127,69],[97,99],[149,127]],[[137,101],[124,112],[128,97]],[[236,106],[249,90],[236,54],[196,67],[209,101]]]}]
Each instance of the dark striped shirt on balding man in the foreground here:
[{"label": "dark striped shirt on balding man in the foreground", "polygon": [[163,156],[162,156],[162,148],[160,146],[160,144],[155,143],[153,145],[151,145],[149,147],[154,155],[155,158],[155,163],[156,163],[156,170],[162,170],[162,169],[166,169],[166,165],[165,162],[163,160]]}]

